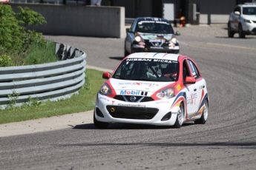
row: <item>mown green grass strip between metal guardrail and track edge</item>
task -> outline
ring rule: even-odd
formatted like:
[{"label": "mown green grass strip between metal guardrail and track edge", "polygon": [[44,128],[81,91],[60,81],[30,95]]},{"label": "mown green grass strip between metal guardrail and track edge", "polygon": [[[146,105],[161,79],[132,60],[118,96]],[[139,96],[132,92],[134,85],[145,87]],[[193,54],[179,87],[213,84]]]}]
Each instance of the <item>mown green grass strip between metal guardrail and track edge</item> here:
[{"label": "mown green grass strip between metal guardrail and track edge", "polygon": [[95,69],[86,69],[85,74],[87,85],[79,89],[79,95],[56,102],[46,101],[39,106],[24,109],[3,109],[0,111],[0,124],[92,110],[95,106],[96,93],[105,79],[102,78],[102,72]]}]

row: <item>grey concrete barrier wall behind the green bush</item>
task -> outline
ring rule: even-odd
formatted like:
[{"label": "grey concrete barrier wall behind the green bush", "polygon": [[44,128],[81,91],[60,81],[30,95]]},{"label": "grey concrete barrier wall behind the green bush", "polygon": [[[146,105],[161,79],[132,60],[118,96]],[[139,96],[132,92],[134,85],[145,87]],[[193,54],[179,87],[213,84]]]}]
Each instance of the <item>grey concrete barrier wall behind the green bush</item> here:
[{"label": "grey concrete barrier wall behind the green bush", "polygon": [[41,13],[47,24],[35,26],[34,29],[45,35],[125,38],[125,7],[23,3],[11,3],[10,6],[15,12],[21,6]]}]

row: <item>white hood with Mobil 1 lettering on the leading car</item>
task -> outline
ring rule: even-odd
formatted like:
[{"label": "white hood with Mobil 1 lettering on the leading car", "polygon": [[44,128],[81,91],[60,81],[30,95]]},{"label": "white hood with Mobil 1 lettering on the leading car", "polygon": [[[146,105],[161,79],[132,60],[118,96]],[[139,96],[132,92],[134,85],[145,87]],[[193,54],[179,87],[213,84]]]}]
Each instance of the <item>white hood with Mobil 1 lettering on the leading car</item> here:
[{"label": "white hood with Mobil 1 lettering on the leading car", "polygon": [[150,92],[150,94],[152,95],[154,94],[154,92],[157,92],[159,89],[162,89],[163,87],[167,87],[168,85],[174,85],[175,81],[129,81],[110,78],[109,83],[111,84],[112,88],[116,91],[116,95],[141,95],[141,92]]}]

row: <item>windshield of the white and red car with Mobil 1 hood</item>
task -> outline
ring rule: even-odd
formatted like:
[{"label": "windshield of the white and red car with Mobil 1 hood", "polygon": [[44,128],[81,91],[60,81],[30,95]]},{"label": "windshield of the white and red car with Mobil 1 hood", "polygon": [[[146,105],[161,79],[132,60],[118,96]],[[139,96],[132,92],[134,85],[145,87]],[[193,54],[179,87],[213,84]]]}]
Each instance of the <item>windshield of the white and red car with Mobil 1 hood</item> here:
[{"label": "windshield of the white and red car with Mobil 1 hood", "polygon": [[127,58],[112,78],[130,81],[177,81],[177,61],[151,58]]}]

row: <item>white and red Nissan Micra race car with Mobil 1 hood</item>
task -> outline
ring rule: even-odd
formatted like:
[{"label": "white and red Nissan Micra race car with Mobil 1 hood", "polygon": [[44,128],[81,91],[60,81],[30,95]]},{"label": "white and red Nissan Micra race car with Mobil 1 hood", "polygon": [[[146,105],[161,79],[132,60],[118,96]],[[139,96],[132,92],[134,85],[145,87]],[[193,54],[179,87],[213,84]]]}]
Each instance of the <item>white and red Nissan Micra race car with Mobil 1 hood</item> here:
[{"label": "white and red Nissan Micra race car with Mobil 1 hood", "polygon": [[136,52],[111,75],[104,72],[96,96],[93,122],[137,123],[180,128],[184,122],[206,123],[209,95],[197,64],[188,56]]}]

